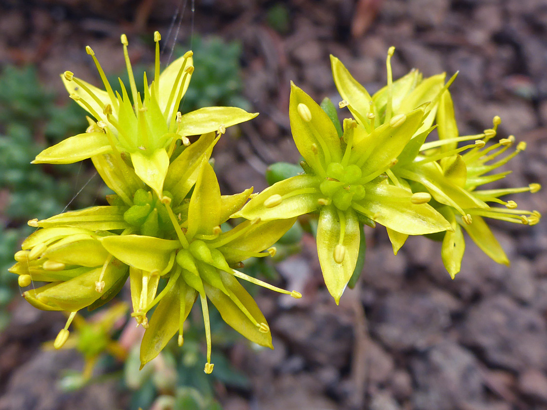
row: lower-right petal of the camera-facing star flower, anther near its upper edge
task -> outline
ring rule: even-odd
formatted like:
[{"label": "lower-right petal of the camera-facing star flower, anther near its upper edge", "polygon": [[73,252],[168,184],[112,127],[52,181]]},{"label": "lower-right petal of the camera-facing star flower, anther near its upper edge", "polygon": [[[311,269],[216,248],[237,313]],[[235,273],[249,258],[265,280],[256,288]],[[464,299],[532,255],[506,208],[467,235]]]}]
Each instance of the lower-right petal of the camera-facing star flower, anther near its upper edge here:
[{"label": "lower-right petal of the camera-facing star flower, anther near its upper edge", "polygon": [[411,192],[403,188],[369,183],[365,191],[364,200],[353,203],[353,208],[394,231],[423,235],[451,229],[446,219],[429,204],[411,203]]}]

